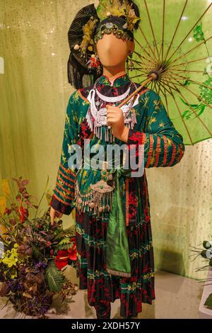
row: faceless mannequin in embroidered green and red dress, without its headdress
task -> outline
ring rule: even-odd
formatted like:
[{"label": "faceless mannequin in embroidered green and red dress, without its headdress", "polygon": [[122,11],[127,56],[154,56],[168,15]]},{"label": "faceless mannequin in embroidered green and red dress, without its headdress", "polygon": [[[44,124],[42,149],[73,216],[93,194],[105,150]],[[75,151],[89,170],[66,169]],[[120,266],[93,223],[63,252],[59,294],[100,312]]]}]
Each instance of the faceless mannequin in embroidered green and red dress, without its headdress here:
[{"label": "faceless mannequin in embroidered green and red dress, without its headdress", "polygon": [[[100,203],[100,192],[97,196],[95,191],[92,196],[89,194],[90,187],[93,188],[90,184],[98,184],[101,174],[83,168],[79,173],[70,169],[69,146],[77,143],[84,147],[84,139],[89,138],[91,147],[99,143],[106,147],[109,126],[114,143],[119,146],[125,143],[130,149],[134,145],[136,156],[139,145],[143,145],[144,168],[150,168],[179,163],[184,154],[184,144],[182,135],[175,129],[155,91],[143,87],[130,105],[131,112],[135,111],[136,115],[133,125],[127,125],[124,111],[118,107],[121,101],[117,101],[117,97],[124,96],[126,91],[131,94],[139,86],[126,74],[126,59],[134,52],[134,41],[105,33],[95,47],[102,64],[102,74],[94,84],[76,89],[69,98],[50,215],[53,225],[54,218],[69,215],[76,208],[79,288],[88,289],[88,303],[95,307],[97,318],[110,318],[110,303],[117,298],[120,299],[120,315],[131,318],[142,311],[142,303],[152,304],[155,299],[151,215],[145,169],[142,176],[135,178],[127,174],[112,174],[115,180],[118,179],[113,189],[116,201],[111,199],[110,205],[105,205]],[[93,134],[95,127],[90,125],[89,110],[92,106],[94,109],[99,106],[98,99],[95,99],[99,95],[102,108],[107,109],[107,125],[102,125],[101,134]],[[102,198],[105,200],[104,196]],[[122,234],[119,234],[120,230]],[[114,237],[110,237],[111,232],[114,232]],[[122,247],[119,237],[115,235],[125,236],[128,245],[124,243]],[[126,241],[126,238],[123,239]]]}]

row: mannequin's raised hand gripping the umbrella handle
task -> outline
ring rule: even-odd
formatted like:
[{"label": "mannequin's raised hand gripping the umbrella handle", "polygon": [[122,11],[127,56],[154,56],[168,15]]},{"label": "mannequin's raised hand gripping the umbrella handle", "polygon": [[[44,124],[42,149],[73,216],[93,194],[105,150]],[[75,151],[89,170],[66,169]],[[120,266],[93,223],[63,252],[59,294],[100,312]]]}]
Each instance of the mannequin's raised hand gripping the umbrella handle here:
[{"label": "mannequin's raised hand gripping the umbrella handle", "polygon": [[121,108],[117,106],[106,106],[107,108],[107,125],[112,128],[112,135],[117,139],[127,142],[129,128],[124,125],[124,115]]}]

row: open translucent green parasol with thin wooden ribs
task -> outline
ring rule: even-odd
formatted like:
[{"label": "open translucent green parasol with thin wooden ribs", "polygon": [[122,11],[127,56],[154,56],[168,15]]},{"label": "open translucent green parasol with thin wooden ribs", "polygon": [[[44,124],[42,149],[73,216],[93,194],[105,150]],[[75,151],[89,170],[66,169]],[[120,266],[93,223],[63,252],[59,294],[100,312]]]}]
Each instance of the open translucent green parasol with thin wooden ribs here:
[{"label": "open translucent green parasol with thin wooden ribs", "polygon": [[[208,23],[212,1],[143,0],[136,4],[141,23],[129,76],[160,95],[185,145],[211,138],[212,36]],[[155,77],[150,77],[152,72]]]}]

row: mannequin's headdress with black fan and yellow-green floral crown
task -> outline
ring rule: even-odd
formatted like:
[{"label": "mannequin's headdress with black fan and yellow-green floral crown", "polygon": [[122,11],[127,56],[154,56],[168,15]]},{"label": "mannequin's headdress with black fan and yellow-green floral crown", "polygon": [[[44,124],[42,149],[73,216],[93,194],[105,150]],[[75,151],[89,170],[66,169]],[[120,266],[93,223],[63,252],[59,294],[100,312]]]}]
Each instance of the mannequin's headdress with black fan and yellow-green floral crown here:
[{"label": "mannequin's headdress with black fan and yellow-green floral crown", "polygon": [[134,30],[139,27],[139,22],[139,9],[132,0],[100,0],[97,9],[90,4],[78,11],[68,32],[69,83],[76,89],[93,84],[102,75],[95,43],[105,33],[134,40]]}]

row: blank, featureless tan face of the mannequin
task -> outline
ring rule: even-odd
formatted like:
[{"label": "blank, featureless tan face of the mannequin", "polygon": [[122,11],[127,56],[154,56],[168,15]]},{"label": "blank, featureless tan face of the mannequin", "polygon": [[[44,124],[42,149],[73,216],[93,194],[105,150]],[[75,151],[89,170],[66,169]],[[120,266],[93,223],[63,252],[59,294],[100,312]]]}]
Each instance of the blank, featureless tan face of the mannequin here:
[{"label": "blank, featureless tan face of the mannequin", "polygon": [[119,39],[113,33],[104,34],[96,44],[98,57],[105,68],[125,65],[126,58],[130,52],[134,52],[134,47],[134,41]]}]

